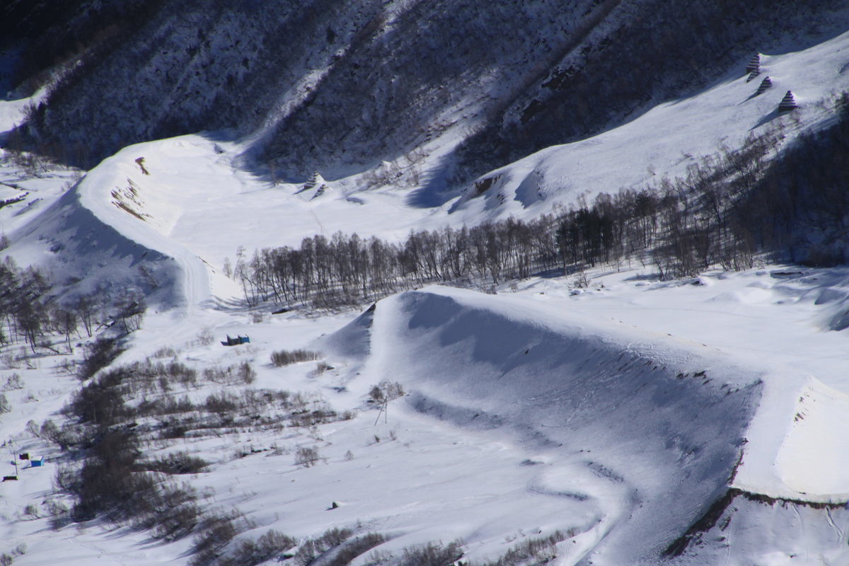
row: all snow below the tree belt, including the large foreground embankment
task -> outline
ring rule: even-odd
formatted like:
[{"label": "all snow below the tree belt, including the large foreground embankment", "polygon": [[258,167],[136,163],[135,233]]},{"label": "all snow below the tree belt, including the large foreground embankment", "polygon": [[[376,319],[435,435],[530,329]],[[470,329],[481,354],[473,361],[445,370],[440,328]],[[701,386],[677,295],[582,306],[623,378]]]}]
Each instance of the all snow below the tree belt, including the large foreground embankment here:
[{"label": "all snow below the tree belt, including the large foreground embankment", "polygon": [[[256,381],[236,390],[314,391],[337,411],[360,412],[314,428],[191,434],[151,447],[149,457],[187,450],[211,462],[187,480],[214,494],[211,506],[246,513],[256,526],[245,536],[273,527],[305,541],[330,526],[362,524],[388,535],[383,552],[398,556],[404,547],[460,537],[477,563],[515,541],[559,531],[565,539],[554,553],[563,564],[841,563],[841,533],[849,528],[840,474],[849,453],[846,384],[839,361],[791,347],[817,343],[812,322],[836,310],[815,296],[845,289],[846,273],[828,276],[715,272],[692,285],[625,272],[599,273],[583,293],[546,278],[494,296],[429,288],[381,300],[338,332],[350,313],[257,322],[195,311],[175,332],[166,311],[149,315],[118,362],[162,356],[155,352],[163,346],[199,369],[248,361]],[[773,293],[783,299],[771,300]],[[731,301],[737,306],[729,308]],[[657,317],[646,317],[653,311]],[[763,353],[752,356],[745,341],[724,333],[734,320],[760,328],[765,345],[843,391],[788,371],[780,358],[772,366]],[[251,344],[204,345],[194,338],[203,325],[250,334]],[[829,341],[842,340],[830,333]],[[268,356],[281,346],[321,348],[329,369],[272,367]],[[17,450],[48,457],[47,468],[22,468],[20,489],[2,484],[5,540],[29,546],[20,563],[39,563],[57,549],[76,557],[71,563],[86,563],[91,552],[127,564],[188,552],[188,542],[152,544],[132,530],[91,523],[53,533],[42,511],[17,518],[26,505],[56,497],[50,474],[62,453],[25,432],[25,422],[58,418],[76,388],[76,378],[51,367],[63,357],[14,370],[25,389],[5,394],[12,412],[0,421],[4,434]],[[385,414],[363,402],[381,380],[408,391]],[[183,395],[173,387],[170,395]],[[219,387],[185,392],[203,400]],[[804,397],[803,419],[795,418],[797,397]],[[33,398],[49,402],[33,405]],[[293,464],[303,446],[317,447],[324,462]],[[819,471],[806,474],[807,466]],[[719,518],[703,520],[728,497]],[[700,522],[704,530],[682,539]]]}]

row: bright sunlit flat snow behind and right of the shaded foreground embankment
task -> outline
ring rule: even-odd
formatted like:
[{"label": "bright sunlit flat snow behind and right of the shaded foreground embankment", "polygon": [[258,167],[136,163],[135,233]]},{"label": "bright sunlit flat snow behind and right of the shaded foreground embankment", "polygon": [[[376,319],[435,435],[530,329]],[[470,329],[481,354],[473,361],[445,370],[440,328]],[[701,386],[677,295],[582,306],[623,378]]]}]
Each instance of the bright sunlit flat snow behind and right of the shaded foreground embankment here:
[{"label": "bright sunlit flat snow behind and right of the shaded foreground embankment", "polygon": [[762,401],[732,485],[790,500],[846,502],[849,356],[845,334],[829,326],[849,307],[846,281],[844,270],[780,268],[712,274],[694,284],[609,274],[572,295],[543,280],[531,296],[762,372]]}]

